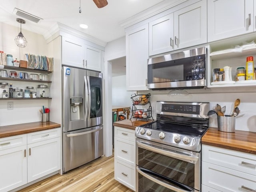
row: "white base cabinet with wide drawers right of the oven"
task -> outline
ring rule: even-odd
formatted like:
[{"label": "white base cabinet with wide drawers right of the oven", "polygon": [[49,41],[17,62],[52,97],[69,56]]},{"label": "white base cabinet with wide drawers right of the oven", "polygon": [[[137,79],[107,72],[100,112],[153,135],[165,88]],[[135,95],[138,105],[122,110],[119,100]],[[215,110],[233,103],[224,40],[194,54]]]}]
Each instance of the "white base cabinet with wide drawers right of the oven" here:
[{"label": "white base cabinet with wide drawers right of the oven", "polygon": [[256,155],[202,145],[202,192],[256,190]]}]

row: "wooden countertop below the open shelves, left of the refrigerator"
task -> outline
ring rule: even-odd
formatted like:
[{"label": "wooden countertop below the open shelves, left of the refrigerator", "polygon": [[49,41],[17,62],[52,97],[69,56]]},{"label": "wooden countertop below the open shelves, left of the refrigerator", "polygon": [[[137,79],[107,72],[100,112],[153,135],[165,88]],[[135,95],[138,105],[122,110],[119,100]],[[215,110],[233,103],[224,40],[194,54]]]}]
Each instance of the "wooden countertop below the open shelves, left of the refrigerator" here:
[{"label": "wooden countertop below the open shelves, left of the refrigerator", "polygon": [[0,138],[54,129],[59,127],[60,124],[50,121],[0,126]]}]

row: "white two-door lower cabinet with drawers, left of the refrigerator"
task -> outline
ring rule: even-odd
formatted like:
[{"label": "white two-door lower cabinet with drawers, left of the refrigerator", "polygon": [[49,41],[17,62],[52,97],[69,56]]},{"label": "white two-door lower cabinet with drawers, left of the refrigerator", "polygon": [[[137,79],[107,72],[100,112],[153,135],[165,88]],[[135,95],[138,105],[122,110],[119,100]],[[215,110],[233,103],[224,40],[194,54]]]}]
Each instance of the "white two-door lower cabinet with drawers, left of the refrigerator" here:
[{"label": "white two-door lower cabinet with drawers, left of the refrigerator", "polygon": [[0,138],[0,192],[60,170],[60,128]]}]

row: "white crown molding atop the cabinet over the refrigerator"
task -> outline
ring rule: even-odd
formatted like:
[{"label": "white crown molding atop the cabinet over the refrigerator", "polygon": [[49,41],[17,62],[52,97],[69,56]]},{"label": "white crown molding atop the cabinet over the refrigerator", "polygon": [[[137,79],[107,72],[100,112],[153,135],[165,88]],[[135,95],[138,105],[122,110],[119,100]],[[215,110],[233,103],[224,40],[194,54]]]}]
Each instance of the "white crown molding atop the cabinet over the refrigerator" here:
[{"label": "white crown molding atop the cabinet over the refrigerator", "polygon": [[75,30],[73,28],[70,28],[64,24],[58,23],[56,22],[56,24],[54,24],[43,36],[46,40],[50,39],[54,34],[58,33],[59,35],[66,33],[66,34],[70,34],[72,36],[81,38],[83,40],[98,44],[100,46],[105,47],[106,46],[106,42],[95,38],[93,36],[90,36],[88,34],[85,34],[83,32],[80,32],[78,30]]}]

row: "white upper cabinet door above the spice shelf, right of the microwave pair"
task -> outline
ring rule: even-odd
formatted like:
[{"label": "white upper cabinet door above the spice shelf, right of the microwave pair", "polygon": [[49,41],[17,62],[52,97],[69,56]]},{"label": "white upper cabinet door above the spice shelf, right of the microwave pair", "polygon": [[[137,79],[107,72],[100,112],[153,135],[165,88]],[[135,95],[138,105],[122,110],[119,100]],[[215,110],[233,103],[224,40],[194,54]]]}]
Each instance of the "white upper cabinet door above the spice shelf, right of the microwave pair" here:
[{"label": "white upper cabinet door above the spice shelf, right of the microwave pair", "polygon": [[208,42],[254,30],[254,0],[208,0]]}]

